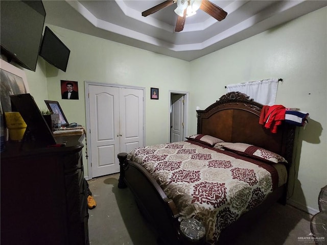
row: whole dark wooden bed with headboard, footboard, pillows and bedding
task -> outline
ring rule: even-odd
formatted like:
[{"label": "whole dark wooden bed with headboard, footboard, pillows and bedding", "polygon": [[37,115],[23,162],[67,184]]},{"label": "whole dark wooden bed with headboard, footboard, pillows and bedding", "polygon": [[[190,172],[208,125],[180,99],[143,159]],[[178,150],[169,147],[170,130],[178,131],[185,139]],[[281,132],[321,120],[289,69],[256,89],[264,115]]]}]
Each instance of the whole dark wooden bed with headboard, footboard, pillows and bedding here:
[{"label": "whole dark wooden bed with headboard, footboard, pillows and bedding", "polygon": [[295,127],[271,133],[259,124],[262,108],[229,92],[197,111],[188,140],[118,155],[119,188],[130,188],[161,243],[218,244],[286,203]]}]

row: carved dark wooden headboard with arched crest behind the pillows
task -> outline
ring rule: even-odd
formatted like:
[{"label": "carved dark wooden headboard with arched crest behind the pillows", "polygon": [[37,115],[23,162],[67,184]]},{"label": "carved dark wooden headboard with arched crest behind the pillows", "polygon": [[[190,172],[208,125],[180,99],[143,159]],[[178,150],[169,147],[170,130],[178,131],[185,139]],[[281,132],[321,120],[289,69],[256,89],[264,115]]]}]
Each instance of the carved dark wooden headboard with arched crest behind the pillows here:
[{"label": "carved dark wooden headboard with arched crest behind the pillows", "polygon": [[197,133],[212,135],[226,142],[260,146],[282,155],[291,163],[295,127],[283,123],[278,126],[277,133],[271,133],[259,124],[262,107],[244,93],[229,92],[205,110],[197,110]]}]

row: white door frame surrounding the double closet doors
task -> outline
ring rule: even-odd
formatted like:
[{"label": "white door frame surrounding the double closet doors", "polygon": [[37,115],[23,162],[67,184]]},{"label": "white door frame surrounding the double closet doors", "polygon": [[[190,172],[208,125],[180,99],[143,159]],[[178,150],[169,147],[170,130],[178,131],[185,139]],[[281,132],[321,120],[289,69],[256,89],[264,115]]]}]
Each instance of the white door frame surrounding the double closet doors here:
[{"label": "white door frame surrounding the double closet doors", "polygon": [[[84,88],[85,88],[85,119],[86,119],[86,133],[90,132],[90,107],[89,107],[89,86],[96,85],[96,86],[106,86],[106,87],[116,87],[116,88],[132,88],[132,89],[139,89],[143,90],[143,146],[145,146],[145,87],[137,87],[137,86],[129,86],[129,85],[121,85],[121,84],[112,84],[112,83],[98,83],[98,82],[91,82],[91,81],[84,81]],[[87,180],[92,179],[92,167],[91,167],[91,139],[90,137],[86,137],[86,160],[87,160]],[[89,150],[87,151],[87,146],[89,146]]]}]

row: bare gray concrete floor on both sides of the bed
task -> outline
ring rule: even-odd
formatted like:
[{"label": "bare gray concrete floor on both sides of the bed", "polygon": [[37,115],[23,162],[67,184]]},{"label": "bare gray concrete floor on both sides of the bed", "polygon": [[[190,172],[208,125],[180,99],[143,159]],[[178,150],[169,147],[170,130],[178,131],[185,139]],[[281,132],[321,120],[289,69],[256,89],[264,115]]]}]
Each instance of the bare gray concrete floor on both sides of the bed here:
[{"label": "bare gray concrete floor on both sides of the bed", "polygon": [[[89,210],[90,245],[156,245],[156,236],[139,213],[128,188],[118,188],[119,174],[89,180],[97,202]],[[275,204],[258,223],[237,231],[224,245],[315,245],[299,240],[310,234],[311,215]]]}]

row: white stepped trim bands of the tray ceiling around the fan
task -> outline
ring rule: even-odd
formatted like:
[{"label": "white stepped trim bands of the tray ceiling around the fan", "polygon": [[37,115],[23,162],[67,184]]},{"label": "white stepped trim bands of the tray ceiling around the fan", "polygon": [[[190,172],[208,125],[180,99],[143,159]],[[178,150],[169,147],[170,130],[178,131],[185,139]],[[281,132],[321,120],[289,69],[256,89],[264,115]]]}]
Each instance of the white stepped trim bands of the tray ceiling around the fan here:
[{"label": "white stepped trim bands of the tray ceiling around the fan", "polygon": [[[146,34],[143,34],[141,32],[137,32],[125,27],[118,26],[117,24],[110,23],[108,21],[104,21],[101,19],[98,19],[95,15],[93,15],[90,11],[88,11],[82,4],[80,4],[78,1],[66,1],[69,5],[71,5],[77,12],[79,12],[85,19],[87,19],[93,26],[99,29],[103,29],[109,32],[113,32],[116,34],[120,34],[129,38],[133,38],[145,43],[149,43],[158,47],[164,47],[167,48],[168,50],[175,51],[175,52],[182,52],[182,51],[198,51],[198,50],[203,50],[204,48],[207,48],[217,42],[220,42],[224,39],[227,39],[229,37],[232,37],[233,35],[236,35],[242,31],[245,31],[246,29],[251,28],[254,24],[257,24],[259,22],[267,22],[270,17],[274,16],[275,18],[278,18],[278,14],[282,14],[285,11],[303,3],[306,1],[278,1],[276,4],[271,6],[268,9],[262,10],[260,13],[255,14],[254,16],[249,17],[248,19],[239,22],[238,24],[235,24],[228,29],[224,30],[223,32],[214,35],[214,36],[209,36],[206,38],[204,41],[200,41],[197,43],[188,43],[188,44],[174,44],[172,42],[164,41],[159,38],[155,38]],[[229,12],[231,11],[236,11],[239,9],[241,6],[244,4],[248,3],[249,1],[235,1],[227,6],[225,8]],[[141,20],[142,22],[144,21],[144,17],[139,15],[139,12],[129,8],[123,1],[118,1],[116,2],[118,6],[122,9],[122,11],[126,14],[129,14],[131,18]],[[143,17],[143,18],[142,18]],[[170,24],[163,24],[163,22],[147,17],[148,22],[153,22],[156,23],[156,26],[158,28],[165,26],[164,30],[169,30],[169,29],[174,29]],[[204,30],[207,27],[204,27],[205,24],[212,25],[212,21],[215,23],[217,20],[207,20],[205,22],[202,22],[200,24],[189,24],[185,26],[185,29],[188,31],[193,31],[193,28],[198,28],[198,26],[202,25],[200,30]],[[148,23],[146,22],[146,23]],[[161,22],[161,23],[160,23]],[[203,24],[204,23],[204,24]],[[190,27],[188,27],[190,26]],[[185,31],[186,31],[185,30]],[[176,33],[178,35],[178,33]],[[201,35],[201,33],[199,33]]]}]

